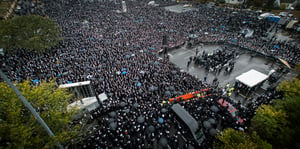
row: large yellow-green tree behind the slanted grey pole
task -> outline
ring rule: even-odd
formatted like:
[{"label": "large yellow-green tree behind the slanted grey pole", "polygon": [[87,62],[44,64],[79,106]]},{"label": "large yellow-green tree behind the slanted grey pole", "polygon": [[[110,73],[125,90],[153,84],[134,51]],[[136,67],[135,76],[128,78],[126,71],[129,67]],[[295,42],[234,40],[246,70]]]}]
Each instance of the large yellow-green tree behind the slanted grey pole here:
[{"label": "large yellow-green tree behind the slanted grey pole", "polygon": [[65,89],[57,88],[54,81],[32,86],[29,81],[17,84],[23,96],[54,132],[50,138],[42,126],[4,82],[0,83],[0,146],[6,148],[52,148],[57,141],[69,142],[79,126],[69,126],[77,110],[67,110],[72,98]]}]

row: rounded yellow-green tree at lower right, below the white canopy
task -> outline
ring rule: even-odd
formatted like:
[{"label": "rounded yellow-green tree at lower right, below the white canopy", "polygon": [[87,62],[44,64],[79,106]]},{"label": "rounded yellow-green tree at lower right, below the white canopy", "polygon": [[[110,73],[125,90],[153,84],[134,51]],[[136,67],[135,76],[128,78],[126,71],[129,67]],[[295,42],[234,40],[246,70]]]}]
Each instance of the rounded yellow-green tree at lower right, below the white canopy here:
[{"label": "rounded yellow-green tree at lower right, below the white canopy", "polygon": [[270,105],[261,105],[251,120],[251,130],[273,145],[285,146],[291,140],[286,113]]}]

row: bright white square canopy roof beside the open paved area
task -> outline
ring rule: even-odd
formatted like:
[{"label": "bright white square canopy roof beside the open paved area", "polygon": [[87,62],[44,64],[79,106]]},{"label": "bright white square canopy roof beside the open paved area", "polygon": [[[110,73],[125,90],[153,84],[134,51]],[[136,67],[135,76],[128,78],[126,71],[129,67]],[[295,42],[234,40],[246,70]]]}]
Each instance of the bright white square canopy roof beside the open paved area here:
[{"label": "bright white square canopy roof beside the open paved area", "polygon": [[251,69],[248,72],[245,72],[240,76],[236,77],[235,79],[247,85],[248,87],[253,87],[261,83],[262,81],[266,80],[267,78],[268,78],[267,75],[258,72],[254,69]]}]

